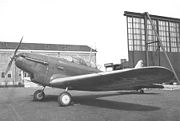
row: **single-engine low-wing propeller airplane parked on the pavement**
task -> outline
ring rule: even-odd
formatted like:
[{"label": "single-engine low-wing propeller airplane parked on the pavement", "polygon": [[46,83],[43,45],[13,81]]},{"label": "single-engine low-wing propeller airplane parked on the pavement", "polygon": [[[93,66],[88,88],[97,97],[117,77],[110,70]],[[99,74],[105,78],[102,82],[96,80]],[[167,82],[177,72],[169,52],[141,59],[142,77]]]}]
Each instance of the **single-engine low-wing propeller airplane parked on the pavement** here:
[{"label": "single-engine low-wing propeller airplane parked on the pavement", "polygon": [[58,57],[34,53],[17,54],[22,40],[23,37],[15,49],[5,74],[10,70],[13,61],[18,68],[29,73],[32,82],[43,86],[42,89],[34,92],[35,101],[45,99],[46,86],[64,89],[58,95],[58,104],[69,106],[72,102],[69,90],[136,90],[144,93],[144,88],[160,87],[154,84],[174,79],[171,70],[161,66],[142,67],[142,61],[138,62],[136,68],[102,72],[97,68]]}]

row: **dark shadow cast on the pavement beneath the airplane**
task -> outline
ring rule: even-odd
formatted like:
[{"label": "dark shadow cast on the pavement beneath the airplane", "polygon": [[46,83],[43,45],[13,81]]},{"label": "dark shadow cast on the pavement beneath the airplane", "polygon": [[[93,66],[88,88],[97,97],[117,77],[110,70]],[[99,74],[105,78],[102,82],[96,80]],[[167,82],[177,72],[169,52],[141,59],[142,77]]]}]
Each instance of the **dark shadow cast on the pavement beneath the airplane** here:
[{"label": "dark shadow cast on the pavement beneath the airplane", "polygon": [[[93,95],[81,95],[73,96],[74,104],[81,104],[87,106],[94,106],[100,108],[109,108],[115,110],[125,111],[155,111],[160,110],[159,107],[134,104],[129,102],[118,102],[105,99],[98,99],[100,97],[116,96],[116,95],[128,95],[128,94],[139,94],[137,92],[116,92],[111,94],[93,94]],[[158,93],[145,93],[143,95],[158,95]],[[47,95],[44,102],[57,101],[57,95]]]}]

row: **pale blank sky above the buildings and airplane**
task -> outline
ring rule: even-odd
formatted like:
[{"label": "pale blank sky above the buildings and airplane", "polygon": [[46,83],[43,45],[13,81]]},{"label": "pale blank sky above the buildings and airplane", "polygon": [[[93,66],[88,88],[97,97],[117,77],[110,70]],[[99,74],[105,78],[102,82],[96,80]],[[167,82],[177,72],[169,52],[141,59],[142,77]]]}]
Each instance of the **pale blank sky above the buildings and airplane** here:
[{"label": "pale blank sky above the buildings and airplane", "polygon": [[178,0],[0,0],[0,42],[75,44],[97,64],[128,59],[124,11],[180,18]]}]

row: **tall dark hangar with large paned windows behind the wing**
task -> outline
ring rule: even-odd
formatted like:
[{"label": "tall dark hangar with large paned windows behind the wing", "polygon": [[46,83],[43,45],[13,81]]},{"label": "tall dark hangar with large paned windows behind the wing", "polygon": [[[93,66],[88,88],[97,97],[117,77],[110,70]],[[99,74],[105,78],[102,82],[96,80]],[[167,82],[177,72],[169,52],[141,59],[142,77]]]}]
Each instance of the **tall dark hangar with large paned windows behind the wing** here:
[{"label": "tall dark hangar with large paned windows behind the wing", "polygon": [[[180,79],[180,19],[128,11],[124,12],[124,16],[127,20],[129,65],[135,66],[140,59],[145,66],[171,69],[172,65]],[[171,64],[164,53],[168,55]]]}]

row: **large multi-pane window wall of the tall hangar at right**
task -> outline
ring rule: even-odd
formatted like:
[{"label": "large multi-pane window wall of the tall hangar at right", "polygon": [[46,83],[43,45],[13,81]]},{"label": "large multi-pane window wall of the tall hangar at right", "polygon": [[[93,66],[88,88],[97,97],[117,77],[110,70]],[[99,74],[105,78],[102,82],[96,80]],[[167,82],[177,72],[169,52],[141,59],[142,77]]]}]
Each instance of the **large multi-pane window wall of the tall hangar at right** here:
[{"label": "large multi-pane window wall of the tall hangar at right", "polygon": [[[129,51],[145,51],[146,41],[151,43],[148,44],[147,51],[156,52],[158,40],[145,14],[125,12],[125,16],[127,16]],[[180,52],[180,20],[154,15],[151,17],[165,51]],[[162,52],[162,48],[160,51]]]}]

